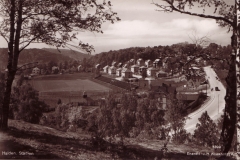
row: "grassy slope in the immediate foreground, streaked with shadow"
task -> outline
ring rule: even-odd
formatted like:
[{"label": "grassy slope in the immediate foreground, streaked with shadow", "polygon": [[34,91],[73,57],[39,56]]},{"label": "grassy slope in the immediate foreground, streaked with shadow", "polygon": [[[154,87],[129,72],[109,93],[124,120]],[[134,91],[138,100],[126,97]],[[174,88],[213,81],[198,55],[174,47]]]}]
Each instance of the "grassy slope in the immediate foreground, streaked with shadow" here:
[{"label": "grassy slope in the immediate foreground, streaked with shadow", "polygon": [[[113,145],[112,150],[104,147],[96,148],[91,145],[90,135],[61,132],[49,127],[29,124],[22,121],[10,120],[9,132],[0,133],[0,151],[34,153],[30,156],[3,156],[1,158],[21,159],[153,159],[160,158],[159,151],[163,146],[161,141],[125,140],[126,147],[118,149]],[[102,145],[104,146],[104,145]],[[186,152],[211,152],[209,148],[195,145],[169,144],[167,159],[208,159],[206,156],[187,156]]]}]

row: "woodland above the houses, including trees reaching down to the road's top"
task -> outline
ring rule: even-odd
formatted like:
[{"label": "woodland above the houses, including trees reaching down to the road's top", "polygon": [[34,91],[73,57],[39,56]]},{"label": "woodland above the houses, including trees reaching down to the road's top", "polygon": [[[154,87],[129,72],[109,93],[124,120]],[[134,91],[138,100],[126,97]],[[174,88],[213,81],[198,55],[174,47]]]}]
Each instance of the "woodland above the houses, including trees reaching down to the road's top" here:
[{"label": "woodland above the houses, including trees reaching down to the road's top", "polygon": [[[200,43],[200,42],[198,42]],[[228,62],[230,60],[229,54],[226,54],[231,49],[230,46],[217,45],[218,52],[212,49],[213,43],[203,49],[201,46],[190,43],[178,43],[171,46],[154,46],[154,47],[132,47],[126,49],[120,49],[116,51],[103,52],[90,57],[87,60],[89,66],[95,64],[101,64],[102,67],[111,65],[113,61],[117,63],[126,63],[130,59],[142,58],[143,60],[154,61],[157,58],[162,60],[166,57],[170,57],[167,70],[178,70],[180,66],[189,66],[192,63],[196,63],[195,59],[202,58],[206,60],[207,64],[214,64],[220,68],[228,69]],[[177,56],[176,56],[177,55]],[[221,58],[224,56],[224,59]],[[187,57],[193,57],[191,60],[187,60]],[[209,59],[209,57],[212,59]],[[185,67],[188,68],[188,67]],[[143,74],[146,74],[143,72]],[[145,77],[146,75],[143,75]]]}]

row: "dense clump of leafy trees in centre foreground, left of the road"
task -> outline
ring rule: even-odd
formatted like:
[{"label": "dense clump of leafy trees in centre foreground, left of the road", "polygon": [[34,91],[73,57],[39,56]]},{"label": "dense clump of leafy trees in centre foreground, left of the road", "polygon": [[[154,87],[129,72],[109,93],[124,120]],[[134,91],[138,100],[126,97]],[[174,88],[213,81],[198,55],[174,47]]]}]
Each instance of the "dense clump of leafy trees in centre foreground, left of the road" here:
[{"label": "dense clump of leafy trees in centre foreground, left of the road", "polygon": [[164,111],[157,100],[137,99],[134,93],[111,94],[97,114],[88,116],[88,129],[100,137],[165,139]]}]

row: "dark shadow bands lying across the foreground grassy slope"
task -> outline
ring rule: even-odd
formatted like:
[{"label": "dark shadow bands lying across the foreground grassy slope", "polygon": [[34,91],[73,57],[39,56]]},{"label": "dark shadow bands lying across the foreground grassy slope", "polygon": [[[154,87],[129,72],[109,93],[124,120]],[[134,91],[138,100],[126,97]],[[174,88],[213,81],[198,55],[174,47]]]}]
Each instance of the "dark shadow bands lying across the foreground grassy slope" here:
[{"label": "dark shadow bands lying across the foreground grassy slope", "polygon": [[[78,152],[78,150],[84,149],[90,152],[104,152],[112,156],[112,159],[172,159],[172,160],[208,160],[210,157],[205,155],[187,155],[187,153],[169,153],[163,152],[161,150],[152,150],[148,148],[143,148],[138,145],[126,145],[122,146],[121,144],[111,144],[103,139],[75,139],[75,138],[64,138],[58,137],[55,135],[50,135],[46,133],[38,133],[32,131],[21,131],[16,128],[10,127],[8,134],[16,138],[24,139],[34,139],[35,141],[51,144],[51,145],[60,145],[62,149],[64,148],[67,151],[72,153]],[[4,141],[1,142],[1,148],[4,148],[4,151],[27,151],[34,153],[32,156],[2,156],[0,158],[5,159],[60,159],[57,155],[48,153],[47,149],[42,149],[36,151],[30,146],[25,146],[18,144],[13,141]],[[72,150],[71,148],[74,148]],[[55,148],[55,150],[57,150]],[[2,150],[1,150],[2,151]],[[214,157],[215,159],[217,157]],[[226,157],[226,159],[232,159]]]}]

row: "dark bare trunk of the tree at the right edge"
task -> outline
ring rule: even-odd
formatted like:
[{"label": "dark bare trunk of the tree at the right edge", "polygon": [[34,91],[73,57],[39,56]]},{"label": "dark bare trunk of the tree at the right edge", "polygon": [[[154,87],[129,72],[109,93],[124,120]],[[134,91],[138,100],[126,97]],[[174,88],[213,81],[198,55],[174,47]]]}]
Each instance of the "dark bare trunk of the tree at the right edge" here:
[{"label": "dark bare trunk of the tree at the right edge", "polygon": [[236,51],[237,51],[237,31],[233,31],[233,35],[231,37],[232,42],[232,54],[229,66],[229,72],[226,78],[227,82],[227,92],[225,96],[225,111],[224,111],[224,120],[223,120],[223,128],[221,133],[221,140],[223,143],[222,152],[227,153],[231,149],[231,144],[233,140],[233,135],[235,132],[236,125],[236,96],[237,96],[237,88],[236,88]]}]

